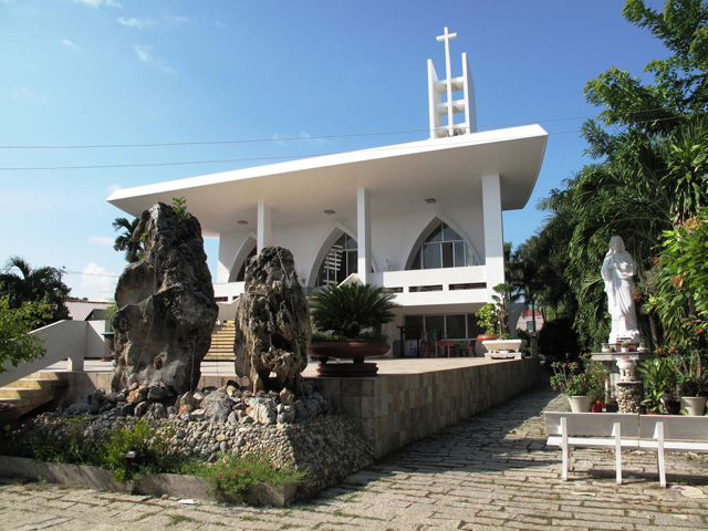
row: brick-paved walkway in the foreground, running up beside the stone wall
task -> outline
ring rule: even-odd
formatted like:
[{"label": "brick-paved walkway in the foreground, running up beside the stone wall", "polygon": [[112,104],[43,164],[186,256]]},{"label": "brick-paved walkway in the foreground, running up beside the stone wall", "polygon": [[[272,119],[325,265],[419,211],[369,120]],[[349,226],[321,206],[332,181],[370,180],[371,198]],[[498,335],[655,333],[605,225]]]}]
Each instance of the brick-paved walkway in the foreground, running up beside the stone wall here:
[{"label": "brick-paved walkway in the foreground, running up beside the stone wall", "polygon": [[[410,445],[310,503],[228,507],[43,483],[0,487],[3,530],[708,529],[708,460],[669,455],[658,487],[653,454],[625,451],[625,485],[606,450],[576,450],[570,481],[544,447],[542,412],[564,397],[538,389]],[[689,487],[689,486],[694,487]],[[693,497],[686,496],[693,494]]]}]

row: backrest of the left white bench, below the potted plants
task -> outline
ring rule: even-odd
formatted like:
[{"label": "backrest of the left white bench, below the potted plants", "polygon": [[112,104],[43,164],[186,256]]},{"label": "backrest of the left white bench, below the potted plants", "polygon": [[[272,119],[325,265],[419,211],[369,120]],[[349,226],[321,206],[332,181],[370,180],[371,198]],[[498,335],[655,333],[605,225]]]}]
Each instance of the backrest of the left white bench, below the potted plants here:
[{"label": "backrest of the left white bench, below the potted plants", "polygon": [[[561,435],[561,418],[565,417],[568,435],[613,437],[615,424],[620,423],[621,436],[639,436],[639,415],[636,413],[554,413],[546,412],[545,431]],[[706,417],[708,418],[708,417]]]}]

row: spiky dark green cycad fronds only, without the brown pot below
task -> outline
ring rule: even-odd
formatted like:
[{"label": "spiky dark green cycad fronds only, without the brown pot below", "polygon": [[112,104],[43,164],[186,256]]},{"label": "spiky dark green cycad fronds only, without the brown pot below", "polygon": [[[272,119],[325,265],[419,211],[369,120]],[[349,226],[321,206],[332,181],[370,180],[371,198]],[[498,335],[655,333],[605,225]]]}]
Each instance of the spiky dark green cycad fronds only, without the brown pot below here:
[{"label": "spiky dark green cycad fronds only, without the brown pot below", "polygon": [[315,327],[332,331],[347,340],[362,336],[362,331],[394,320],[395,294],[373,284],[345,284],[327,287],[310,299],[310,313]]}]

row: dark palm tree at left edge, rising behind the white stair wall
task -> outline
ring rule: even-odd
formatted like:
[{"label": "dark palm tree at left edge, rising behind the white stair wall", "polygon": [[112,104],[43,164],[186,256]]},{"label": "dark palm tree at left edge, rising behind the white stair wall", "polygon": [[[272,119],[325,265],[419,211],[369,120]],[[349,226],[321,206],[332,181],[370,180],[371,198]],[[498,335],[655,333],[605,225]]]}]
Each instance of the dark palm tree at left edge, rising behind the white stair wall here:
[{"label": "dark palm tree at left edge, rising behind the white stair wall", "polygon": [[44,325],[69,319],[64,301],[71,291],[62,281],[62,271],[56,268],[32,268],[20,257],[10,257],[0,274],[0,295],[7,295],[10,308],[20,309],[24,302],[44,303],[51,308],[35,325]]}]

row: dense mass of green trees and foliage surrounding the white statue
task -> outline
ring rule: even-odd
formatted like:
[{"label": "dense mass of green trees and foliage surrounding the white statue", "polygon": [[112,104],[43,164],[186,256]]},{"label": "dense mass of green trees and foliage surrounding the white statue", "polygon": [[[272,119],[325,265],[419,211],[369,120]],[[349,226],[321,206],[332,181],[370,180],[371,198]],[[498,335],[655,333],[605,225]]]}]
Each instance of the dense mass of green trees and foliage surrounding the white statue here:
[{"label": "dense mass of green trees and foliage surrounding the white statue", "polygon": [[[638,323],[654,346],[665,334],[683,333],[688,341],[686,323],[695,316],[695,330],[705,316],[696,298],[708,278],[706,251],[698,248],[708,206],[708,7],[668,0],[659,12],[627,0],[623,13],[669,54],[649,62],[649,83],[616,67],[587,83],[586,101],[602,110],[583,125],[593,163],[541,201],[550,217],[538,240],[527,242],[530,249],[518,251],[541,263],[518,278],[535,274],[548,287],[517,282],[533,294],[530,300],[571,316],[586,350],[608,332],[600,270],[613,235],[622,236],[637,263]],[[685,241],[691,231],[697,236]],[[664,251],[656,247],[662,239]]]}]

